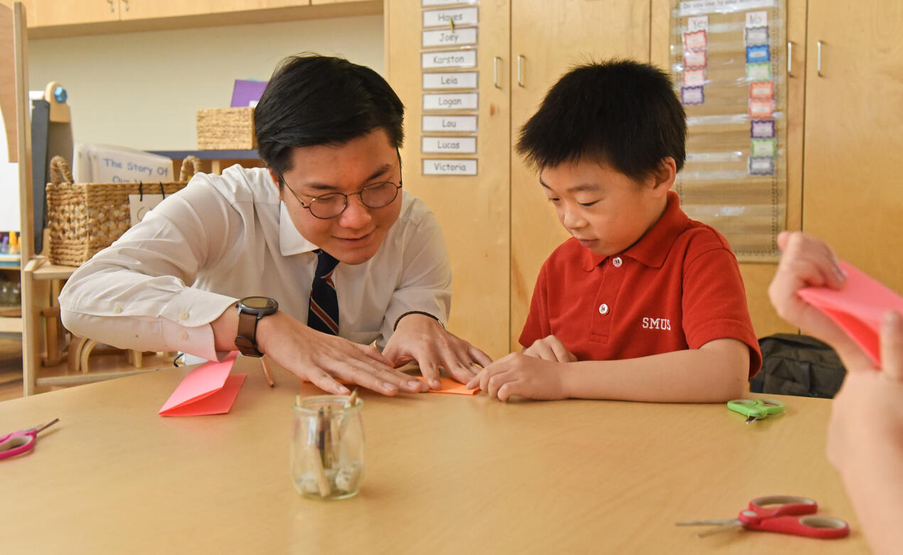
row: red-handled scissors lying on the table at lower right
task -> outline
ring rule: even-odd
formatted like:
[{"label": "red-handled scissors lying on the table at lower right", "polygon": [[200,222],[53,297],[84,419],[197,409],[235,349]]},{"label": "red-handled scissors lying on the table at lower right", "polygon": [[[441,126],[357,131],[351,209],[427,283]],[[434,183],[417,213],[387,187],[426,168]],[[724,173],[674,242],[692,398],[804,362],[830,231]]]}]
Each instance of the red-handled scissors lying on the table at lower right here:
[{"label": "red-handled scissors lying on the table at lower right", "polygon": [[[843,538],[850,533],[850,525],[830,516],[816,516],[818,503],[808,497],[770,495],[757,497],[749,508],[740,511],[735,519],[677,522],[678,526],[717,526],[697,534],[700,538],[738,527],[746,530],[776,531],[796,536],[824,540]],[[799,515],[808,516],[799,516]]]}]

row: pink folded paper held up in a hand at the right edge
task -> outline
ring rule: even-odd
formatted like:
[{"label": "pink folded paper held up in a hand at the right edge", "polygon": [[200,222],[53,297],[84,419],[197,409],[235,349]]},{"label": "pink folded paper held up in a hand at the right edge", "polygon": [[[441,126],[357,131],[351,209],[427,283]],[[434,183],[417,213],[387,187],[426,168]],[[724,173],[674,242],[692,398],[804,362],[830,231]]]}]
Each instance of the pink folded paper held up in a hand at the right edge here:
[{"label": "pink folded paper held up in a hand at the right edge", "polygon": [[889,310],[903,314],[903,298],[852,264],[841,261],[840,265],[847,273],[841,289],[806,287],[799,296],[831,318],[880,366],[881,322]]}]

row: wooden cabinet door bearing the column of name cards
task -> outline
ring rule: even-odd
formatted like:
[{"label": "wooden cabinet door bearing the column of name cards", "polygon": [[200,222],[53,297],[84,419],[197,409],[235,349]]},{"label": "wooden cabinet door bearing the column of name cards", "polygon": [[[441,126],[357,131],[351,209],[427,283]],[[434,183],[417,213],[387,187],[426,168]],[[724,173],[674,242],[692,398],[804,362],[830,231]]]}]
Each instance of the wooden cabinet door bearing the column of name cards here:
[{"label": "wooden cabinet door bearing the column of name cards", "polygon": [[[386,78],[405,103],[401,151],[405,189],[423,199],[442,225],[453,273],[449,329],[498,357],[508,352],[509,327],[508,2],[480,0],[478,5],[476,155],[422,152],[424,12],[420,6],[411,0],[386,0]],[[423,161],[429,158],[475,158],[477,175],[424,175]]]}]

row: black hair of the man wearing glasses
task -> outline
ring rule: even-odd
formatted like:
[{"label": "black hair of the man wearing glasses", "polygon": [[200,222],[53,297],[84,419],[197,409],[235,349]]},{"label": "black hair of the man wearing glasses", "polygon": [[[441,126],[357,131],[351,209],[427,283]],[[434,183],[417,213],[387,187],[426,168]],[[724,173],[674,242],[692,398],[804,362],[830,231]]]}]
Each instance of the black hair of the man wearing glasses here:
[{"label": "black hair of the man wearing glasses", "polygon": [[290,56],[254,110],[257,151],[282,175],[296,146],[341,145],[381,127],[398,148],[404,117],[401,99],[376,71],[343,58]]}]

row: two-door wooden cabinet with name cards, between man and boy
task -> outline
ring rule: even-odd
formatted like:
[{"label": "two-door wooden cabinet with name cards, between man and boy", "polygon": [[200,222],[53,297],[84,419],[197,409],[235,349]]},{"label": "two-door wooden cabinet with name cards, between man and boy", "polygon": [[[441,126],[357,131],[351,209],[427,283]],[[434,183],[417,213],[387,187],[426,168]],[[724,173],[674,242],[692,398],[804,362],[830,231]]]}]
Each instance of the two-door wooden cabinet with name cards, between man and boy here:
[{"label": "two-door wooden cabinet with name cards, between man and boy", "polygon": [[[405,102],[405,188],[433,208],[452,260],[455,334],[498,357],[517,348],[539,267],[566,238],[538,177],[512,152],[546,90],[590,57],[648,60],[649,6],[628,0],[479,2],[478,174],[424,175],[422,10],[386,2],[386,76]],[[510,22],[510,23],[509,23]],[[473,156],[459,156],[473,157]]]}]

